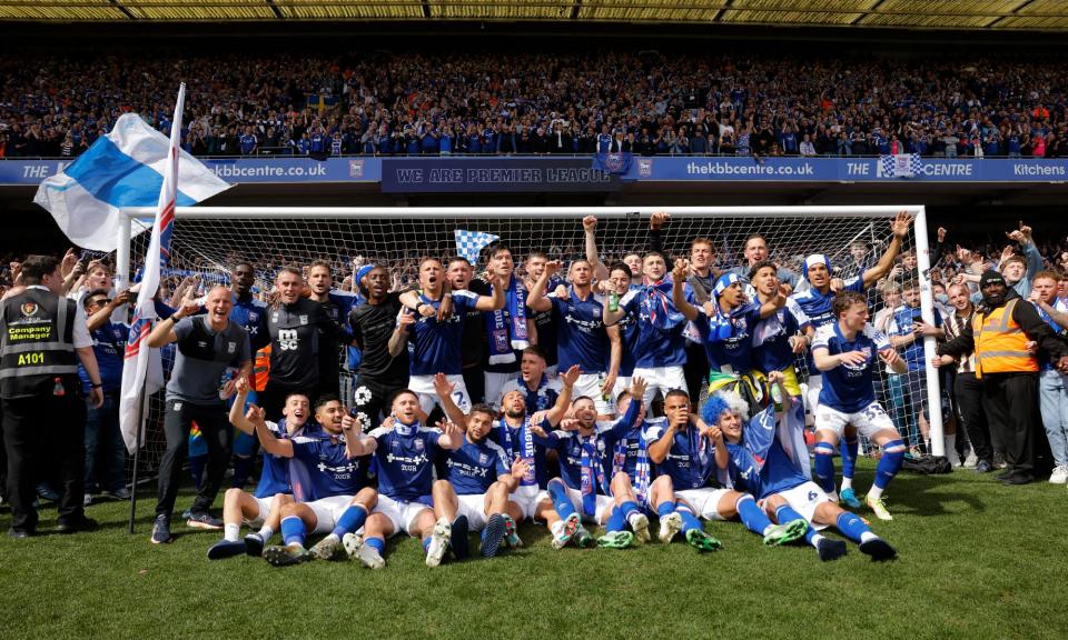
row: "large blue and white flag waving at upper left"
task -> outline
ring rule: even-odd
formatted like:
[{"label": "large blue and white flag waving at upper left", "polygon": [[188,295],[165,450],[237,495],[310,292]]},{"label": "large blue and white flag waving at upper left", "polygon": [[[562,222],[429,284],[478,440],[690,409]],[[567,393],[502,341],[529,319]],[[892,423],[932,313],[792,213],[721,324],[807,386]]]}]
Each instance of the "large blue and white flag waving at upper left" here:
[{"label": "large blue and white flag waving at upper left", "polygon": [[[181,131],[176,123],[171,131]],[[136,113],[126,113],[60,173],[41,182],[33,201],[48,210],[71,242],[85,249],[115,251],[119,210],[154,207],[164,184],[167,137]],[[178,207],[190,207],[230,188],[192,156],[180,151]],[[144,230],[137,224],[131,230]]]}]

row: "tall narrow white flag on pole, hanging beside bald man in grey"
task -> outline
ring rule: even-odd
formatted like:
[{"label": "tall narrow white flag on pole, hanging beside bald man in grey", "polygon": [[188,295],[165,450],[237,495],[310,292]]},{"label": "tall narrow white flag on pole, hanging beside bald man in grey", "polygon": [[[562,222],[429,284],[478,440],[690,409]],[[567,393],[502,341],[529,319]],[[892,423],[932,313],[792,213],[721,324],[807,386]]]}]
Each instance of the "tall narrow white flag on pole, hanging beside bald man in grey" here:
[{"label": "tall narrow white flag on pole, hanging beside bald man in grey", "polygon": [[[159,349],[148,346],[148,334],[156,320],[156,292],[159,290],[159,274],[166,257],[170,254],[170,233],[175,227],[175,207],[178,203],[178,159],[181,142],[181,116],[186,103],[185,82],[178,88],[175,101],[175,120],[170,128],[170,143],[159,191],[156,193],[156,220],[152,223],[152,238],[145,253],[144,276],[134,307],[134,321],[126,343],[122,361],[122,393],[119,398],[119,431],[126,448],[132,453],[137,448],[138,431],[144,430],[148,416],[148,398],[164,386],[164,370]],[[121,121],[121,119],[120,119]],[[116,129],[119,126],[116,124]],[[144,442],[144,439],[141,440]]]}]

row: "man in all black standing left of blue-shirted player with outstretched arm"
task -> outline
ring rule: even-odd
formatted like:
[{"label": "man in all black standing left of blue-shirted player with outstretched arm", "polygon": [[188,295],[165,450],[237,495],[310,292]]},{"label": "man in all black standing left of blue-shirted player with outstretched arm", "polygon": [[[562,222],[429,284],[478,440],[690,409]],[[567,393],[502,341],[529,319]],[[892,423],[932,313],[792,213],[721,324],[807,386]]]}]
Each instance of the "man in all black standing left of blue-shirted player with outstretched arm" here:
[{"label": "man in all black standing left of blue-shirted player with outstretched arm", "polygon": [[408,350],[389,352],[403,306],[399,293],[389,291],[389,273],[382,267],[372,268],[359,287],[367,301],[348,314],[353,341],[362,351],[354,409],[362,424],[378,424],[379,414],[389,414],[389,399],[408,384]]}]

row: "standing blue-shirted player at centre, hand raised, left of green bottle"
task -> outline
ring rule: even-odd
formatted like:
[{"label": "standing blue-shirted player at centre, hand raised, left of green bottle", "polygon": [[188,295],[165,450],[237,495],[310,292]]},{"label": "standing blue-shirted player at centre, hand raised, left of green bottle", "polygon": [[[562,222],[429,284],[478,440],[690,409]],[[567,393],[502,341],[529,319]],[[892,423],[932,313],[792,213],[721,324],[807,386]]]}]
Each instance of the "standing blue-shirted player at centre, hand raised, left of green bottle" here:
[{"label": "standing blue-shirted player at centre, hand raised, left of green bottle", "polygon": [[[612,390],[623,357],[619,327],[604,326],[606,300],[593,292],[593,268],[586,260],[571,263],[567,297],[546,293],[550,281],[560,271],[560,262],[548,262],[531,289],[527,306],[536,311],[552,311],[555,318],[556,347],[562,369],[577,364],[582,370],[575,383],[576,393],[589,396],[597,404],[597,419],[614,413]],[[541,333],[540,333],[541,336]]]}]

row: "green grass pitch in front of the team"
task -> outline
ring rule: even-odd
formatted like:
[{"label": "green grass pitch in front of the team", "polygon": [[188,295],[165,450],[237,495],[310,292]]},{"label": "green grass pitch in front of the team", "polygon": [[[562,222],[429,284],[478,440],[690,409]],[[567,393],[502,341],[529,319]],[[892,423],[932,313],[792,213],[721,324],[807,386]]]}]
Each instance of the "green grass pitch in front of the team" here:
[{"label": "green grass pitch in front of the team", "polygon": [[[872,464],[862,461],[858,486]],[[288,569],[246,557],[211,562],[215,533],[148,542],[152,498],[93,506],[101,531],[0,539],[0,636],[14,638],[1062,638],[1068,629],[1068,491],[1002,487],[989,476],[902,474],[896,520],[873,521],[899,559],[850,544],[821,563],[808,547],[765,549],[739,523],[723,541],[554,552],[544,528],[492,561],[423,564],[394,539],[388,566]],[[179,507],[189,502],[188,496]],[[866,517],[870,513],[863,512]],[[42,531],[53,512],[42,513]],[[8,517],[0,516],[7,529]]]}]

